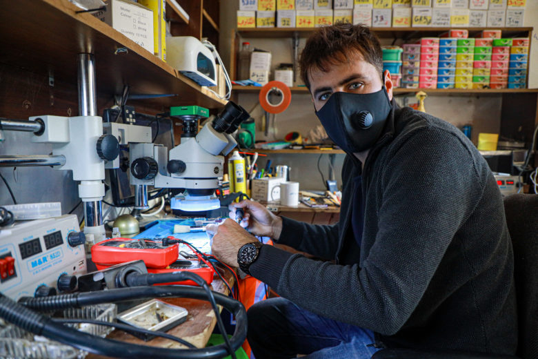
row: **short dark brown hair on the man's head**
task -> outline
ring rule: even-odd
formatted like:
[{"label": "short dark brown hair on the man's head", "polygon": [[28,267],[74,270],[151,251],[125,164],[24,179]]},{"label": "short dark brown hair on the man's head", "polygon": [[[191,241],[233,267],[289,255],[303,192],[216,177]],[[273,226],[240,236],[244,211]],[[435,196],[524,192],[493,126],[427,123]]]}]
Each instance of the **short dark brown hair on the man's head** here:
[{"label": "short dark brown hair on the man's head", "polygon": [[379,39],[368,27],[337,23],[320,28],[308,38],[301,52],[299,68],[304,84],[310,90],[308,73],[312,68],[326,72],[330,65],[350,61],[357,52],[365,61],[375,66],[379,76],[383,74],[383,52]]}]

